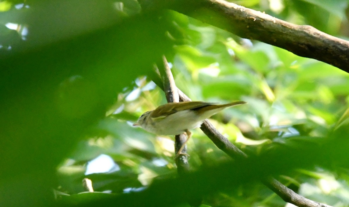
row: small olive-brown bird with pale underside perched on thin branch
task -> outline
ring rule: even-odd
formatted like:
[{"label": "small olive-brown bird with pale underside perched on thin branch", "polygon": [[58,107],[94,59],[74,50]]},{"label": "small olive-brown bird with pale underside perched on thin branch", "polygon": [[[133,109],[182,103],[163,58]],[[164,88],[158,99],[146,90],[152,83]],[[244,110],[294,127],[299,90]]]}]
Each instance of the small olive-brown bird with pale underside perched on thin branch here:
[{"label": "small olive-brown bird with pale underside perched on thin branch", "polygon": [[157,135],[187,134],[187,140],[176,154],[176,158],[183,154],[182,150],[191,137],[191,129],[200,127],[205,119],[221,110],[246,103],[236,101],[226,104],[218,104],[203,101],[171,102],[157,107],[154,110],[143,113],[133,126],[139,126],[144,130]]}]

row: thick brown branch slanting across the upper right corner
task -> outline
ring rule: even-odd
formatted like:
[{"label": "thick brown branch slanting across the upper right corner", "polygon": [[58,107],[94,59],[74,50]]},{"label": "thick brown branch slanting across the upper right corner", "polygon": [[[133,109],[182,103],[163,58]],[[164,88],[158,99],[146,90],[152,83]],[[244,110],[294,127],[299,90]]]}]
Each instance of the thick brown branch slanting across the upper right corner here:
[{"label": "thick brown branch slanting across the upper right corner", "polygon": [[240,37],[265,42],[349,72],[349,41],[312,26],[292,24],[224,0],[141,1],[142,6],[151,2],[156,2],[157,9],[170,8]]}]

